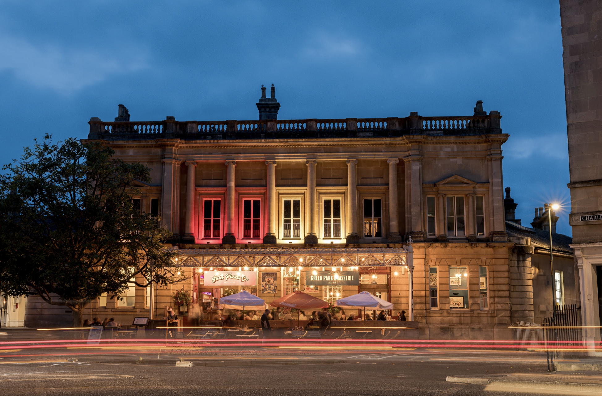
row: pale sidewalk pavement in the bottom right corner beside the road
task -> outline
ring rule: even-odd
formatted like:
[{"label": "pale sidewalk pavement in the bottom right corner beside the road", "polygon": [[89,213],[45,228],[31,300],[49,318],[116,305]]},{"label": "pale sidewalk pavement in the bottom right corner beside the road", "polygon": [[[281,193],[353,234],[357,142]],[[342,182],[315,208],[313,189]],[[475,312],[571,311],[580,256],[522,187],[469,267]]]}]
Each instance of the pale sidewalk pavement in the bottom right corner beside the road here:
[{"label": "pale sidewalk pavement in the bottom right corner beside the road", "polygon": [[529,388],[539,392],[579,392],[602,395],[602,371],[554,371],[552,373],[448,376],[447,382],[472,383],[492,388]]}]

